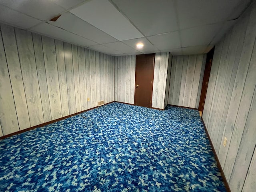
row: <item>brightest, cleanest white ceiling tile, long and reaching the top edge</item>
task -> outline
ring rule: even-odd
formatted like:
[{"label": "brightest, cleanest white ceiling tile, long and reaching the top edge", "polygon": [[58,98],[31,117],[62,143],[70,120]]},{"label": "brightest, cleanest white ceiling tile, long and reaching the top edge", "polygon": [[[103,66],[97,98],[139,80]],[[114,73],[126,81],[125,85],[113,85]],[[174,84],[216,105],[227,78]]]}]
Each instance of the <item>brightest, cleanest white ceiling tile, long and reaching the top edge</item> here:
[{"label": "brightest, cleanest white ceiling tile, long and reaching the top edge", "polygon": [[108,0],[92,0],[70,12],[120,41],[143,37]]}]

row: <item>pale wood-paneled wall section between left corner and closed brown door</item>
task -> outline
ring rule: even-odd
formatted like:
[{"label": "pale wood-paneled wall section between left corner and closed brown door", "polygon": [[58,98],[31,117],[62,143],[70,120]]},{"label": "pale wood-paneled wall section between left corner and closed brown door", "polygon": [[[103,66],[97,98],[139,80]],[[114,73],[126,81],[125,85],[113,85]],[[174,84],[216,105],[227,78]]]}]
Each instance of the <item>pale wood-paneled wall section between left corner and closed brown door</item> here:
[{"label": "pale wood-paneled wall section between left corner and closed brown door", "polygon": [[115,101],[134,104],[136,56],[117,56],[115,60]]}]

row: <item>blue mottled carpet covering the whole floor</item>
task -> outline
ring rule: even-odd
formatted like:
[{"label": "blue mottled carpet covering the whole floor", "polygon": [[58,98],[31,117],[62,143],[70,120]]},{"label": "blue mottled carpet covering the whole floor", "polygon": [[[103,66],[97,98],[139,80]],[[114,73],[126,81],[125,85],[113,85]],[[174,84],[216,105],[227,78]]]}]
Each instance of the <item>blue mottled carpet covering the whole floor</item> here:
[{"label": "blue mottled carpet covering the whole floor", "polygon": [[226,190],[198,111],[111,103],[0,140],[0,191]]}]

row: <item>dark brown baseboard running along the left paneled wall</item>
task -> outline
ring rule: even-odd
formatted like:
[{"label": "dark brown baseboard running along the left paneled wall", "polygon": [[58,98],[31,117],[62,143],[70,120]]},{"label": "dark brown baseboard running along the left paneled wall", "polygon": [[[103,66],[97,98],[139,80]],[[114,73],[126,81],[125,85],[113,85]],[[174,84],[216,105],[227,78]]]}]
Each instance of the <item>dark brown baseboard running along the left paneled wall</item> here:
[{"label": "dark brown baseboard running along the left paneled wall", "polygon": [[[113,103],[113,102],[114,101],[109,102],[109,103],[105,103],[104,105],[110,104],[110,103]],[[102,105],[102,106],[104,106],[104,105]],[[96,106],[96,107],[93,107],[93,108],[90,108],[90,109],[86,109],[86,110],[83,110],[83,111],[80,111],[80,112],[77,112],[77,113],[74,113],[74,114],[71,114],[71,115],[68,115],[68,116],[64,116],[64,117],[61,117],[61,118],[58,118],[58,119],[54,119],[54,120],[51,120],[51,121],[48,121],[48,122],[45,122],[45,123],[42,123],[42,124],[39,124],[39,125],[36,125],[36,126],[32,126],[32,127],[29,127],[29,128],[23,129],[23,130],[19,130],[17,132],[11,133],[11,134],[4,135],[4,136],[0,137],[0,139],[5,139],[5,138],[8,138],[8,137],[20,134],[20,133],[24,133],[24,132],[29,131],[29,130],[33,130],[33,129],[38,128],[38,127],[46,126],[48,124],[55,123],[57,121],[60,121],[60,120],[63,120],[63,119],[66,119],[66,118],[78,115],[78,114],[86,112],[86,111],[90,111],[90,110],[98,108],[98,107],[101,107],[101,106]]]}]

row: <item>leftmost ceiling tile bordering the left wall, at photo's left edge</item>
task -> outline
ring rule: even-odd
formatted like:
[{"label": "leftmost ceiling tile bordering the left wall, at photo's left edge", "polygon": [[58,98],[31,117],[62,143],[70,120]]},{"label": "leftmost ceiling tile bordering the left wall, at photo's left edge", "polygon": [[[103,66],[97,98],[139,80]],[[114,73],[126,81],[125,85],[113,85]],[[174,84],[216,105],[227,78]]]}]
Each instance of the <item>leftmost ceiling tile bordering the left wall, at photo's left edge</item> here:
[{"label": "leftmost ceiling tile bordering the left wall, at photo's left edge", "polygon": [[2,5],[0,5],[0,21],[22,29],[30,28],[41,22]]}]

